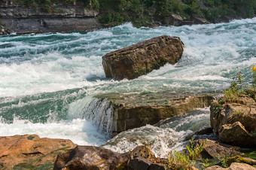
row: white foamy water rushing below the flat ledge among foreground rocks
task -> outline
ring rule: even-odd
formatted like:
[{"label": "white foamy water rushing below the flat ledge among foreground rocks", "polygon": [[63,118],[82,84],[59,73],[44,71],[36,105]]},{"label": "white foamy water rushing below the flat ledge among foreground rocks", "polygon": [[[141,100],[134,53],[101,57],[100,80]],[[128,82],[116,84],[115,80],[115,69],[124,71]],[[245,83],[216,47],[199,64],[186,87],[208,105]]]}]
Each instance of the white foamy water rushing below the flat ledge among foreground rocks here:
[{"label": "white foamy water rushing below the flat ledge among foreground rocks", "polygon": [[184,148],[185,136],[209,126],[209,108],[191,111],[187,116],[161,120],[155,126],[146,125],[126,132],[120,132],[102,146],[110,150],[124,153],[139,145],[149,145],[151,150],[161,157],[172,150]]}]

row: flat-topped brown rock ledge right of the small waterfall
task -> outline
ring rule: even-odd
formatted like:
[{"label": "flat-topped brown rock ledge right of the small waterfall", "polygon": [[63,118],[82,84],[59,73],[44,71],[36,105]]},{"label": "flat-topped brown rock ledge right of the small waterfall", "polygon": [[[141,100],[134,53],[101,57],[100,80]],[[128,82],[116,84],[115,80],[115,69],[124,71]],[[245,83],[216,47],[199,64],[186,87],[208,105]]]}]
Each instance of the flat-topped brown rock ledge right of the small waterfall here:
[{"label": "flat-topped brown rock ledge right of the small waterfall", "polygon": [[[133,129],[146,124],[155,124],[160,120],[185,114],[187,111],[193,111],[196,108],[205,108],[209,106],[212,96],[187,96],[180,99],[164,99],[164,102],[157,103],[151,100],[143,99],[146,104],[130,104],[126,99],[126,103],[112,101],[114,103],[114,125],[113,135],[119,132]],[[133,98],[136,100],[136,98]],[[116,104],[121,102],[120,104]]]}]

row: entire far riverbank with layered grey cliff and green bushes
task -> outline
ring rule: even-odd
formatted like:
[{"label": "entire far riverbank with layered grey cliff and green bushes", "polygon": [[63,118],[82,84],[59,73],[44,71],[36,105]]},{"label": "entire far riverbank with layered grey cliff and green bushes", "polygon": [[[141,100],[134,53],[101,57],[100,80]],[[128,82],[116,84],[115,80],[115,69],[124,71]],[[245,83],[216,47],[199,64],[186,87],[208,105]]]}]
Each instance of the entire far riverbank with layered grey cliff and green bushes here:
[{"label": "entire far riverbank with layered grey cliff and green bushes", "polygon": [[[113,4],[114,3],[114,4]],[[237,2],[236,2],[237,3]],[[0,35],[87,32],[131,22],[133,26],[184,26],[254,17],[253,2],[215,1],[0,1]],[[247,3],[247,2],[246,2]],[[251,4],[250,4],[251,3]],[[230,8],[228,9],[227,6]]]}]

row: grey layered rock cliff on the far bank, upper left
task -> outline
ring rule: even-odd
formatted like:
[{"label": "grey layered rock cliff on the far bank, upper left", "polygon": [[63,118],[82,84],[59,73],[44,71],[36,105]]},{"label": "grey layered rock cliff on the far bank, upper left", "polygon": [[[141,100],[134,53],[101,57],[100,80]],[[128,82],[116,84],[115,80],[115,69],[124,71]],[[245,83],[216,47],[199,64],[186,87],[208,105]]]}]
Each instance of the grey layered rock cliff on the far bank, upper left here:
[{"label": "grey layered rock cliff on the far bank, upper left", "polygon": [[5,25],[6,30],[17,34],[101,29],[102,26],[95,19],[97,15],[98,12],[84,8],[81,2],[76,4],[58,2],[46,10],[43,6],[35,9],[16,2],[0,1],[2,24]]}]

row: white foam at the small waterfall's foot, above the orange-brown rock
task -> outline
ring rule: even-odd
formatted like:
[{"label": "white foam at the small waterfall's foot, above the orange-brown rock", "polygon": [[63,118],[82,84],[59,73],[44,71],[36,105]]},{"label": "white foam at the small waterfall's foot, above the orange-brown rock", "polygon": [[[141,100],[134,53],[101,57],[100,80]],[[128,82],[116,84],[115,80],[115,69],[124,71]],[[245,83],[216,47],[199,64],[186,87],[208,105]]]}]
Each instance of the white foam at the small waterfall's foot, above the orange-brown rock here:
[{"label": "white foam at the small waterfall's foot, above the orange-brown rock", "polygon": [[0,129],[0,136],[36,134],[41,138],[70,139],[80,145],[99,146],[107,140],[92,123],[81,119],[55,123],[31,123],[29,120],[14,119],[11,124],[0,122]]}]

